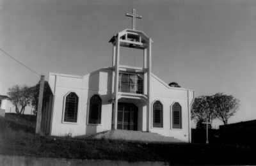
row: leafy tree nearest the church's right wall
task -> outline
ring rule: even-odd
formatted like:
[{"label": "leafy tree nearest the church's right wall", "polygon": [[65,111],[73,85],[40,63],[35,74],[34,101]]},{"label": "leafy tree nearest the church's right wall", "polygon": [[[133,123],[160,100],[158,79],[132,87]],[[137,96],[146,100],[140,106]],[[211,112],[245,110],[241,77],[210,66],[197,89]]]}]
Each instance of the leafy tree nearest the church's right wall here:
[{"label": "leafy tree nearest the church's right wall", "polygon": [[216,117],[212,96],[198,96],[195,98],[191,109],[191,118],[196,121],[196,128],[205,128],[206,120],[212,122]]}]

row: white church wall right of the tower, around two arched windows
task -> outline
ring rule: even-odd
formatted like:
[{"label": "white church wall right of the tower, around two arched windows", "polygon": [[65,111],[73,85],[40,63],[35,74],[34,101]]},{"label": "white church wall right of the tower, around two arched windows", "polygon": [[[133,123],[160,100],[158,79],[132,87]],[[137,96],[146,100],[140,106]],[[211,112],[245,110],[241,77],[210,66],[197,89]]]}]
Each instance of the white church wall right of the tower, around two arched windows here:
[{"label": "white church wall right of the tower, around two arched windows", "polygon": [[[155,75],[151,75],[151,77],[151,104],[153,106],[156,100],[159,100],[163,104],[163,128],[153,128],[153,125],[150,124],[151,132],[189,142],[189,135],[191,135],[189,107],[193,100],[193,91],[184,88],[170,87]],[[181,129],[172,128],[172,105],[175,102],[178,102],[182,107]]]}]

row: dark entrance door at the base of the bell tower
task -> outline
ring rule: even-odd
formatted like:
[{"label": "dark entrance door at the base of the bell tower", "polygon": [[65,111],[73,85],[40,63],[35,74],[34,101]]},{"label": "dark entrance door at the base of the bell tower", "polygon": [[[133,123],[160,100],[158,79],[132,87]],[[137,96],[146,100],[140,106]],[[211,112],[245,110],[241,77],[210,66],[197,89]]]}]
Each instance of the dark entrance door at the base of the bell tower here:
[{"label": "dark entrance door at the base of the bell tower", "polygon": [[132,103],[118,103],[117,129],[138,130],[138,107]]}]

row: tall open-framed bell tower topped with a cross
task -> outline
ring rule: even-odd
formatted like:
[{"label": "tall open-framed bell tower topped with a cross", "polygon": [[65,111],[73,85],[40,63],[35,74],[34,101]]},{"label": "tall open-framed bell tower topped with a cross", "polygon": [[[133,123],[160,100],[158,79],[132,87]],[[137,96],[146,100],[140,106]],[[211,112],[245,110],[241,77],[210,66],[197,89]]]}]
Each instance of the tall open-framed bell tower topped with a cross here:
[{"label": "tall open-framed bell tower topped with a cross", "polygon": [[[150,130],[151,105],[150,105],[150,73],[152,56],[152,39],[143,31],[136,30],[136,19],[142,19],[132,10],[132,14],[127,13],[127,17],[132,17],[132,28],[124,29],[109,40],[113,44],[113,77],[112,77],[112,129],[117,128],[118,100],[127,102],[143,102],[147,108],[147,131]],[[142,49],[143,67],[124,66],[120,64],[120,47],[132,49]],[[125,82],[127,80],[127,82]],[[131,80],[131,81],[129,81]]]}]

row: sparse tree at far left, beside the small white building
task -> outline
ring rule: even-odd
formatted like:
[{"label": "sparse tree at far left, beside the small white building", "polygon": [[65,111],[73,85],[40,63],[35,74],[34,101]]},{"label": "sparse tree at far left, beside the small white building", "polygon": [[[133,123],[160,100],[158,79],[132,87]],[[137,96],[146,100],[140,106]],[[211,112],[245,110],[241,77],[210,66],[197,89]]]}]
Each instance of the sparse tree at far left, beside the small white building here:
[{"label": "sparse tree at far left, beside the small white building", "polygon": [[24,114],[26,106],[30,105],[31,101],[31,92],[29,87],[20,87],[16,85],[10,87],[8,91],[8,96],[13,105],[15,105],[15,112],[17,114]]}]

